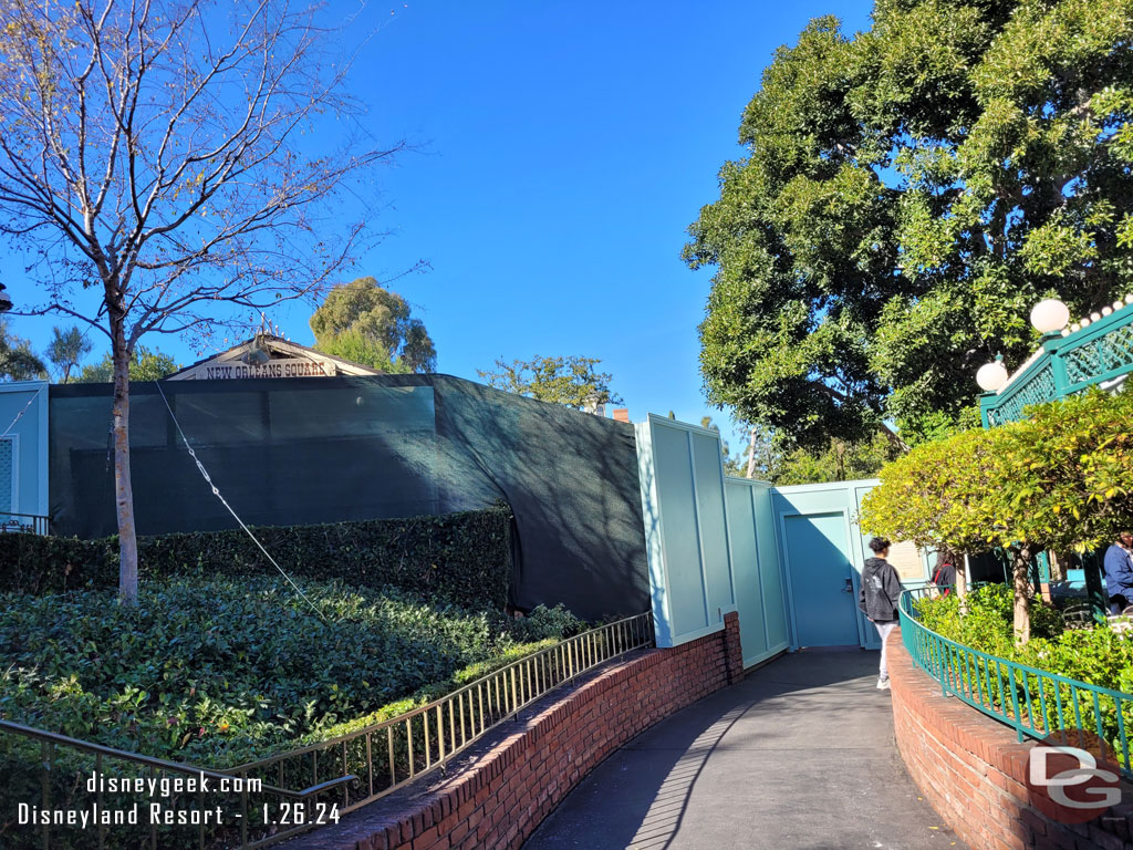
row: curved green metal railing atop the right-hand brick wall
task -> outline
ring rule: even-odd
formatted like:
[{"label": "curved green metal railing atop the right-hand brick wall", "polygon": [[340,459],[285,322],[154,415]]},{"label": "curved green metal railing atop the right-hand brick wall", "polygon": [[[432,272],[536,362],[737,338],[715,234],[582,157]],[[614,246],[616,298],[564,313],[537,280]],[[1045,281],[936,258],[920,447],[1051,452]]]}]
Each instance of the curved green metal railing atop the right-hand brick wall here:
[{"label": "curved green metal railing atop the right-hand brick wall", "polygon": [[934,593],[934,588],[917,588],[901,594],[901,639],[913,663],[940,685],[944,696],[1006,723],[1020,741],[1067,729],[1094,732],[1109,746],[1122,774],[1133,780],[1133,694],[1067,679],[949,640],[920,622],[914,603]]}]

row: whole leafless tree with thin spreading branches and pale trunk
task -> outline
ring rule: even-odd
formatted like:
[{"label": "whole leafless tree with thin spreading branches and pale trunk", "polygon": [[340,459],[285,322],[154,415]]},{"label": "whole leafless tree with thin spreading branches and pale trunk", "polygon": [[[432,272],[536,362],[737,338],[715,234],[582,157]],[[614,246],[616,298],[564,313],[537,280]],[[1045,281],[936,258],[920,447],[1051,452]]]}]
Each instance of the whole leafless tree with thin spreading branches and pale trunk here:
[{"label": "whole leafless tree with thin spreading branches and pale trunk", "polygon": [[364,238],[327,202],[402,146],[325,141],[359,108],[342,92],[350,57],[332,51],[344,27],[321,15],[289,0],[0,0],[0,232],[40,257],[29,312],[110,338],[126,603],[138,340],[320,295]]}]

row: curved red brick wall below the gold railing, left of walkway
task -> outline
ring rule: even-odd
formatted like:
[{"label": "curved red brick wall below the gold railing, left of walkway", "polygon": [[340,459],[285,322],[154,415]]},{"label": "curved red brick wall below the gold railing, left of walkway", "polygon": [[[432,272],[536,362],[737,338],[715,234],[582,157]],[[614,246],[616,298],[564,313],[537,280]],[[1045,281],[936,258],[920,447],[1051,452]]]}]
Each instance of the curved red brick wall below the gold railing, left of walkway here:
[{"label": "curved red brick wall below the gold railing, left of walkway", "polygon": [[563,797],[623,743],[743,675],[740,622],[672,649],[649,649],[552,692],[470,755],[351,813],[288,850],[518,848]]}]

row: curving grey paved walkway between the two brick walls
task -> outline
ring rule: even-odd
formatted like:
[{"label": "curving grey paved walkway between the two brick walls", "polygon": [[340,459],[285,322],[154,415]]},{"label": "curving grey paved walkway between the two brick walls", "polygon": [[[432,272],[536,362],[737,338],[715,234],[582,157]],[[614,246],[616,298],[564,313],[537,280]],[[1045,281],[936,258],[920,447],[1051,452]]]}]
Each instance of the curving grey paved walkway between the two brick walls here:
[{"label": "curving grey paved walkway between the two brick walls", "polygon": [[966,850],[905,773],[876,652],[781,657],[606,759],[523,850]]}]

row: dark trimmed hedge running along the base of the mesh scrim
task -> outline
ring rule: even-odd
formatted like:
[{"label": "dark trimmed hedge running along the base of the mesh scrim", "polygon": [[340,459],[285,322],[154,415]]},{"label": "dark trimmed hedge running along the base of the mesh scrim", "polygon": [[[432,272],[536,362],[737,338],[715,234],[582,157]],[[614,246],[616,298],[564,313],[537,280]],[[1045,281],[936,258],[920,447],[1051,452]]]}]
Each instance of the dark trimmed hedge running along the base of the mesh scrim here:
[{"label": "dark trimmed hedge running along the base of the mesh scrim", "polygon": [[[503,607],[511,572],[511,512],[506,508],[410,519],[255,528],[293,576],[351,585],[395,585],[463,605]],[[146,577],[186,569],[224,575],[278,575],[240,529],[138,538]],[[80,541],[31,534],[0,535],[0,593],[43,595],[118,585],[118,538]]]}]

